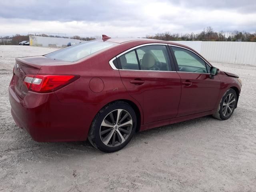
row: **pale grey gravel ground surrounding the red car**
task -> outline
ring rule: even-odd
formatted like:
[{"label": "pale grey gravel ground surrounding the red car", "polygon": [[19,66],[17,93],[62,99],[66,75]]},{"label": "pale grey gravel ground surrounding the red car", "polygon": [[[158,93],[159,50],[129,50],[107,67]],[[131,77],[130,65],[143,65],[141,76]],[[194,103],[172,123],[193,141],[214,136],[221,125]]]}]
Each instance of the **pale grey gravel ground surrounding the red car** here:
[{"label": "pale grey gravel ground surrounding the red car", "polygon": [[140,132],[105,154],[87,142],[38,143],[10,113],[14,58],[54,48],[0,46],[0,191],[256,191],[256,67],[213,63],[243,81],[238,108]]}]

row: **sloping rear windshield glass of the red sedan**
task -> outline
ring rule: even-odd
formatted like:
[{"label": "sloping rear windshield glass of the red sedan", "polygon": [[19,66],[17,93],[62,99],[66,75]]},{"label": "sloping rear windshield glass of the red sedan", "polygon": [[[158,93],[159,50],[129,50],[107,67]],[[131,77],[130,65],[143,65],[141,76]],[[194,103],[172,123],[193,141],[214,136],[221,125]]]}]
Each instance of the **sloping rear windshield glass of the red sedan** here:
[{"label": "sloping rear windshield glass of the red sedan", "polygon": [[45,57],[74,62],[85,58],[95,52],[114,46],[115,44],[117,43],[104,41],[88,41],[52,52],[45,55]]}]

